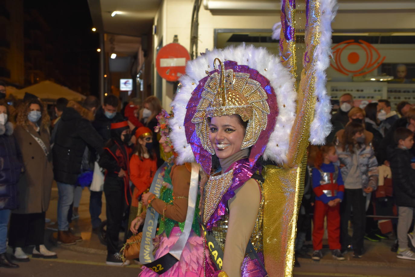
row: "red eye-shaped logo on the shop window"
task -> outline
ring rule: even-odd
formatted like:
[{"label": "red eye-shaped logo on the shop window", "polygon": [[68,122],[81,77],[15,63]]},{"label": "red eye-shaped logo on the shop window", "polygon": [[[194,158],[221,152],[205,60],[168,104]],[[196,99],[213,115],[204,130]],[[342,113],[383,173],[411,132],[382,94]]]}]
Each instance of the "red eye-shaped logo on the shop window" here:
[{"label": "red eye-shaped logo on the shop window", "polygon": [[[359,54],[362,52],[359,48],[363,49],[363,55]],[[377,69],[386,58],[373,45],[361,39],[358,42],[354,39],[345,40],[334,45],[332,50],[334,64],[331,63],[330,66],[346,76],[368,74]]]}]

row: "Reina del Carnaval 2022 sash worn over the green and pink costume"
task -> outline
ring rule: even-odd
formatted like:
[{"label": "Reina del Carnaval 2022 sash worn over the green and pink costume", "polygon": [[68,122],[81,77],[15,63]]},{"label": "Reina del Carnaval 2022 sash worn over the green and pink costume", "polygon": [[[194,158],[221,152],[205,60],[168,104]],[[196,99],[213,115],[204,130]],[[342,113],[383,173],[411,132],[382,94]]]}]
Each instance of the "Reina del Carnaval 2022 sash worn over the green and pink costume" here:
[{"label": "Reina del Carnaval 2022 sash worn over the green and pink costume", "polygon": [[[152,207],[147,208],[146,221],[144,223],[144,228],[143,228],[143,238],[141,240],[139,259],[143,265],[153,270],[157,274],[162,274],[166,272],[176,262],[180,260],[181,253],[183,252],[183,248],[186,245],[186,242],[190,235],[190,231],[192,230],[193,217],[195,215],[195,209],[196,209],[196,199],[198,196],[200,167],[196,163],[192,163],[191,165],[192,165],[192,170],[190,174],[188,208],[187,208],[186,221],[185,221],[185,225],[183,228],[183,232],[181,233],[180,237],[178,238],[176,243],[173,245],[173,247],[170,249],[170,251],[166,255],[160,257],[157,260],[154,260],[154,256],[153,256],[153,250],[154,250],[153,238],[154,238],[154,235],[156,234],[156,226],[154,226],[154,223],[157,224],[159,214]],[[163,167],[164,165],[161,168]],[[157,179],[159,179],[159,176],[161,176],[161,172],[159,173],[159,170],[157,170],[155,176],[157,176]],[[161,178],[163,177],[161,176]],[[161,189],[161,186],[159,186],[158,183],[163,184],[162,181],[159,182],[158,180],[155,181],[153,179],[153,183],[150,186],[151,193],[154,193],[152,190],[157,189],[158,194],[154,193],[157,197],[160,196],[160,189]],[[151,238],[149,238],[150,234],[151,234]]]}]

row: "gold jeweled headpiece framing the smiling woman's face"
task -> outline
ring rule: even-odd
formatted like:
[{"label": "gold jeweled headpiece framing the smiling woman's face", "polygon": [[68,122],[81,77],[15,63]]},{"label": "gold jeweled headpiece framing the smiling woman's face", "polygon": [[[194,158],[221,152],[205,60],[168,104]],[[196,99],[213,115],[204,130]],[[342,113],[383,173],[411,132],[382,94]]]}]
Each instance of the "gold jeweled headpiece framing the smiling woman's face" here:
[{"label": "gold jeweled headpiece framing the smiling woman's face", "polygon": [[267,95],[261,84],[253,80],[248,73],[225,70],[219,61],[219,73],[211,74],[205,83],[202,99],[200,100],[192,123],[196,125],[196,133],[200,142],[210,154],[215,154],[209,141],[209,122],[207,118],[223,115],[240,115],[248,121],[241,149],[251,147],[256,143],[262,130],[268,122],[269,106]]}]

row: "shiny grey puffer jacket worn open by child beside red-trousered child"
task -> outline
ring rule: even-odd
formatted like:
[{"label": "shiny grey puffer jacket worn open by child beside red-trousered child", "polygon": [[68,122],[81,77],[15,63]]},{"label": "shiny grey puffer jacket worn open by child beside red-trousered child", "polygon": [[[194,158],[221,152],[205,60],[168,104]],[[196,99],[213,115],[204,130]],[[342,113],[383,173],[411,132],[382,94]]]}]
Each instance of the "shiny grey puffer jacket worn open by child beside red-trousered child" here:
[{"label": "shiny grey puffer jacket worn open by child beside red-trousered child", "polygon": [[[340,130],[337,132],[337,143],[336,143],[336,151],[339,155],[339,162],[340,164],[344,164],[342,167],[342,177],[343,180],[347,179],[347,175],[349,174],[349,170],[352,168],[353,163],[353,154],[349,152],[349,150],[343,150],[343,133],[344,130]],[[378,186],[378,162],[375,157],[375,153],[373,147],[371,145],[371,140],[373,139],[373,134],[364,130],[365,135],[365,143],[364,145],[357,150],[357,159],[359,162],[359,169],[361,173],[361,183],[363,187],[370,186],[373,190],[375,190]],[[363,188],[362,187],[362,188]]]}]

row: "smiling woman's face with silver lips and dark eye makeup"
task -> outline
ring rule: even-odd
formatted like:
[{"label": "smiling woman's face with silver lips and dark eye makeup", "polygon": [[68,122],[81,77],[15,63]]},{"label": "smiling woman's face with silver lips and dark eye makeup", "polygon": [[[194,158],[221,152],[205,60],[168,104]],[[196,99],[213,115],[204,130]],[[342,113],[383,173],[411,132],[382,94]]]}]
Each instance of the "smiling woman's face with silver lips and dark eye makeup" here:
[{"label": "smiling woman's face with silver lips and dark eye makeup", "polygon": [[209,140],[219,159],[225,159],[241,150],[245,128],[237,115],[215,116],[210,119]]}]

